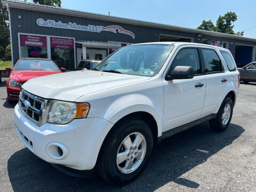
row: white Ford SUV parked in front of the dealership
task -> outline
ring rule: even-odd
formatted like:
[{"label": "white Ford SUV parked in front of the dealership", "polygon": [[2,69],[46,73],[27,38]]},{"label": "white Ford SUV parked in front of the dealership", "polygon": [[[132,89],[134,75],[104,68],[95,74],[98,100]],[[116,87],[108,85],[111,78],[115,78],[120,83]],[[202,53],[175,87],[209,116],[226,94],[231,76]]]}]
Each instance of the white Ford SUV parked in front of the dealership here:
[{"label": "white Ford SUV parked in front of the dealership", "polygon": [[135,44],[92,70],[29,80],[14,121],[22,142],[46,162],[73,175],[97,169],[122,185],[145,169],[162,139],[208,120],[214,131],[225,131],[238,87],[227,49]]}]

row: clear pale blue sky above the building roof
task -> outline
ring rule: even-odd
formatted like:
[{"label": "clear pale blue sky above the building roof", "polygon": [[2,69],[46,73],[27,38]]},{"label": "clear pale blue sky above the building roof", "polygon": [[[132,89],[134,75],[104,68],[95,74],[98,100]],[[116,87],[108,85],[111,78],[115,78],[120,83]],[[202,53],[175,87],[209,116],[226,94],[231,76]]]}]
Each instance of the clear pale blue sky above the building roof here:
[{"label": "clear pale blue sky above the building roof", "polygon": [[219,15],[228,11],[237,14],[234,32],[244,31],[245,37],[256,38],[255,0],[61,0],[61,7],[92,13],[108,14],[158,22],[180,27],[197,28],[203,20],[214,25]]}]

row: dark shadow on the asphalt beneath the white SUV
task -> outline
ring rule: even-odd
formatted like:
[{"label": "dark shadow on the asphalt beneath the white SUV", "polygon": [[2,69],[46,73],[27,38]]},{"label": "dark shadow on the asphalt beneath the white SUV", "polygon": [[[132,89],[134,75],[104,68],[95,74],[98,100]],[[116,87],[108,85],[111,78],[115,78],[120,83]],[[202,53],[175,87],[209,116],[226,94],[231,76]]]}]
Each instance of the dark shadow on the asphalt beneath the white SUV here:
[{"label": "dark shadow on the asphalt beneath the white SUV", "polygon": [[205,122],[165,139],[154,148],[142,175],[123,187],[111,186],[97,174],[86,178],[70,177],[27,148],[9,158],[7,169],[14,191],[154,191],[169,182],[198,188],[196,180],[182,178],[182,175],[231,145],[243,132],[243,127],[230,124],[226,132],[215,133]]}]

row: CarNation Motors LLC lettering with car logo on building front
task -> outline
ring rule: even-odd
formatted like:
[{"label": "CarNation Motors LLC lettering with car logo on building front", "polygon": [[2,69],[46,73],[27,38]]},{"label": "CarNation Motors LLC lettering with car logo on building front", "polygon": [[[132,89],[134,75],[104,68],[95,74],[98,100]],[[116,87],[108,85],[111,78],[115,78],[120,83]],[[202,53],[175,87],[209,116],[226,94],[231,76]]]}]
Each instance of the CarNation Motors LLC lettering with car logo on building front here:
[{"label": "CarNation Motors LLC lettering with car logo on building front", "polygon": [[89,32],[95,32],[95,33],[101,33],[101,31],[109,31],[112,33],[121,33],[125,35],[131,36],[133,39],[135,38],[134,33],[132,33],[129,30],[125,30],[121,26],[111,25],[111,26],[95,26],[95,25],[77,25],[76,23],[68,22],[68,23],[62,23],[61,21],[54,21],[47,19],[46,21],[42,18],[38,18],[36,20],[36,23],[38,26],[41,27],[52,27],[52,28],[59,28],[59,29],[71,29],[71,30],[81,30],[81,31],[89,31]]}]

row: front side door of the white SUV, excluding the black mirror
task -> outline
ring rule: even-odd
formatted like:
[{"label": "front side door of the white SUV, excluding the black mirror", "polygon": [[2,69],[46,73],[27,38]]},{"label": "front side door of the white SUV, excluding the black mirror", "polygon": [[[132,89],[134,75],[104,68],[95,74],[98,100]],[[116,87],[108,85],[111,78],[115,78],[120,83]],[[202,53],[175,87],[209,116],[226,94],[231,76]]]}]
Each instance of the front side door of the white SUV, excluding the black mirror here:
[{"label": "front side door of the white SUV, excluding the black mirror", "polygon": [[166,81],[165,76],[163,77],[163,132],[199,119],[204,105],[206,80],[202,73],[199,47],[181,46],[175,51],[173,58],[168,71],[176,66],[191,66],[194,69],[194,78]]}]

